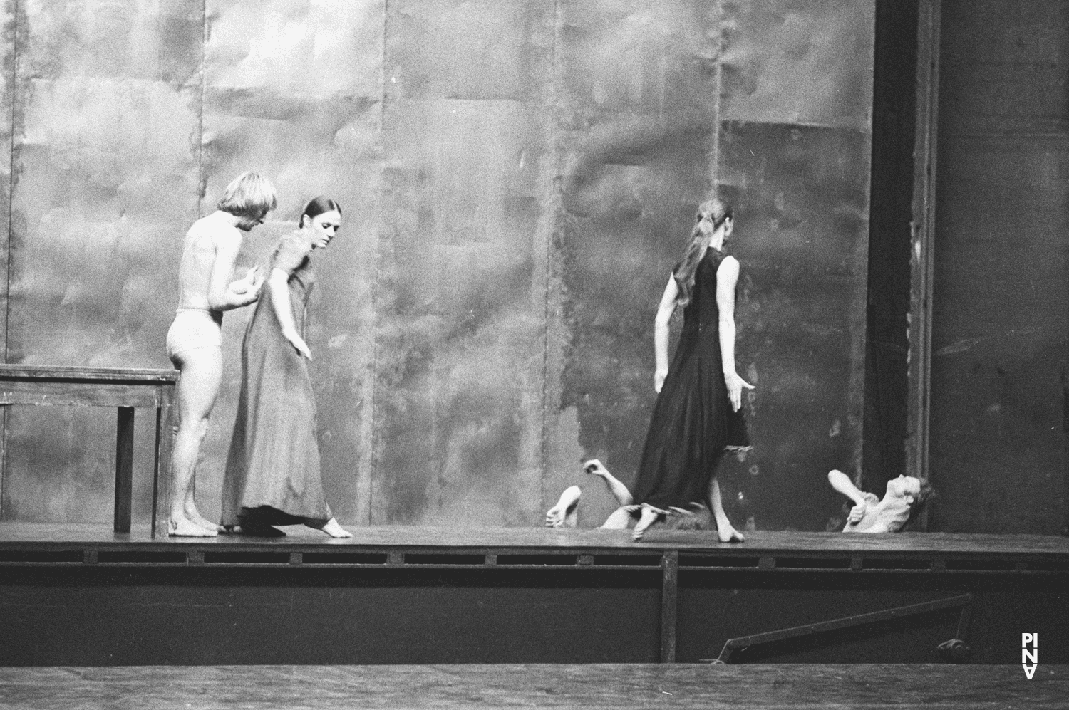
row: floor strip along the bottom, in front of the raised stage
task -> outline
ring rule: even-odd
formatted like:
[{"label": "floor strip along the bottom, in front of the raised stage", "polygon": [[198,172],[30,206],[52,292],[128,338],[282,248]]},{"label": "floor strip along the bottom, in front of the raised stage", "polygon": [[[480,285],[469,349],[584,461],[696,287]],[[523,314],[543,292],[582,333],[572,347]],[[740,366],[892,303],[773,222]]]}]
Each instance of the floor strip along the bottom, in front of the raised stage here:
[{"label": "floor strip along the bottom, in front of the raised stage", "polygon": [[0,708],[1028,708],[1069,666],[425,665],[0,668]]}]

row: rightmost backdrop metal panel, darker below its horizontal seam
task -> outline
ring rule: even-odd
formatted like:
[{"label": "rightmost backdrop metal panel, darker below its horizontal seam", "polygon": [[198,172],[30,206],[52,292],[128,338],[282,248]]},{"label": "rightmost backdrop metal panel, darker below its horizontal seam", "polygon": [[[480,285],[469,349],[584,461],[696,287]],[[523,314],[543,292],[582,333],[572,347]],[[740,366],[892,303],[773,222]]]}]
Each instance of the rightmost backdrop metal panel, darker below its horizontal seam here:
[{"label": "rightmost backdrop metal panel, darker below its horizontal seam", "polygon": [[737,357],[758,390],[733,500],[759,528],[837,527],[827,471],[861,467],[873,4],[734,7],[718,177],[741,211]]}]

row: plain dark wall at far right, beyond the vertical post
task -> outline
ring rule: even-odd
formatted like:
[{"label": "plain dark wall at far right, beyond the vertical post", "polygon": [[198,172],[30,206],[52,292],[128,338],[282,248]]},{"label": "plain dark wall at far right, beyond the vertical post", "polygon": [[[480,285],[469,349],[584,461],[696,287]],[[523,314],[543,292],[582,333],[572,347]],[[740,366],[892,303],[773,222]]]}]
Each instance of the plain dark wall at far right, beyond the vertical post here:
[{"label": "plain dark wall at far right, beyond the vertical post", "polygon": [[943,2],[938,530],[1066,533],[1069,5]]}]

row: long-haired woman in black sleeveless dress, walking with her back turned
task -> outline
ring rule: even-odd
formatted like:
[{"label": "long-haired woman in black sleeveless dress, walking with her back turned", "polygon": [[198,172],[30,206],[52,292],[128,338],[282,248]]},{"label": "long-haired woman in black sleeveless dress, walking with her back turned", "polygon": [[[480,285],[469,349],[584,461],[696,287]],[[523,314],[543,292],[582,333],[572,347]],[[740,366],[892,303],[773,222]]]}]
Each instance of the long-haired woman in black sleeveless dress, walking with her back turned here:
[{"label": "long-haired woman in black sleeveless dress, walking with her back turned", "polygon": [[[635,538],[669,510],[712,503],[723,542],[742,541],[724,512],[716,466],[729,448],[748,448],[742,390],[754,389],[735,373],[734,301],[739,262],[724,251],[731,236],[731,208],[719,200],[698,207],[683,261],[668,279],[654,322],[657,400],[632,486],[640,506]],[[668,322],[683,306],[671,367]]]}]

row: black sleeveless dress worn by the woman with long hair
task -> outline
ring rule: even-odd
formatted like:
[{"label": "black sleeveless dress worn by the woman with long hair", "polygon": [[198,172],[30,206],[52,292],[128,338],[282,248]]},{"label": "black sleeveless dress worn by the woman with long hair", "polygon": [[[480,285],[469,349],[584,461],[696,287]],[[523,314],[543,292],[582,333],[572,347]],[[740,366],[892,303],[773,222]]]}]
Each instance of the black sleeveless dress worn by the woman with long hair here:
[{"label": "black sleeveless dress worn by the woman with long hair", "polygon": [[635,503],[662,510],[704,504],[724,451],[749,447],[743,410],[731,410],[721,361],[716,270],[725,256],[708,249],[695,272],[683,330],[646,435]]}]

